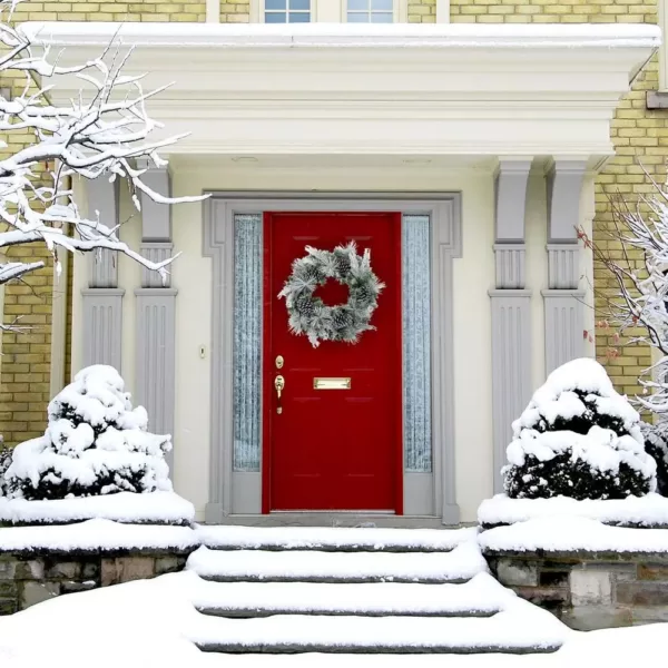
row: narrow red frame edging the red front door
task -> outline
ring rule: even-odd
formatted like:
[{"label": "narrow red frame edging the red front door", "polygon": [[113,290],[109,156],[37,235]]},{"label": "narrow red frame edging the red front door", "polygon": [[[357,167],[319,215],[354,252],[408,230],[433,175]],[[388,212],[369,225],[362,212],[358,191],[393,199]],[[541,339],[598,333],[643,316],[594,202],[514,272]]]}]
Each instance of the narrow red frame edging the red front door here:
[{"label": "narrow red frame edging the red front door", "polygon": [[[266,354],[267,351],[272,348],[272,332],[271,332],[271,313],[272,313],[272,299],[273,296],[271,294],[271,284],[272,284],[272,262],[271,262],[271,248],[272,248],[272,239],[274,234],[274,225],[271,220],[271,216],[274,214],[285,214],[291,212],[275,212],[273,209],[263,212],[263,281],[262,281],[262,294],[263,294],[263,324],[262,324],[262,409],[261,409],[261,421],[262,421],[262,443],[261,443],[261,456],[262,456],[262,513],[269,514],[271,512],[281,512],[285,511],[272,511],[272,460],[273,460],[273,440],[272,440],[272,421],[267,420],[268,412],[267,410],[272,404],[272,379],[274,377],[276,370],[273,365],[273,355]],[[294,212],[294,213],[314,213],[313,208],[308,208],[305,212]],[[345,215],[345,214],[358,214],[358,213],[381,213],[381,214],[395,214],[393,216],[393,236],[399,240],[399,245],[401,247],[401,225],[402,225],[402,212],[393,210],[393,212],[360,212],[356,209],[351,210],[318,210],[318,214],[328,214],[328,215]],[[392,375],[394,377],[394,382],[396,383],[396,389],[394,392],[394,396],[391,401],[391,409],[396,412],[396,424],[395,424],[395,442],[394,442],[394,452],[392,453],[392,487],[394,489],[394,513],[395,515],[403,515],[403,462],[404,462],[404,440],[403,440],[403,392],[402,392],[402,376],[403,376],[403,311],[402,311],[402,254],[399,253],[395,262],[394,262],[394,275],[392,276],[393,281],[399,283],[400,288],[396,291],[396,334],[399,340],[399,358],[394,364],[394,369],[392,370]],[[381,296],[382,298],[382,296]],[[433,446],[433,445],[432,445]],[[362,511],[362,509],[360,509]],[[323,513],[327,511],[322,510],[313,510],[313,512]],[[354,512],[354,511],[346,511]],[[375,513],[374,513],[375,514]],[[379,514],[390,514],[390,513],[379,513]]]}]

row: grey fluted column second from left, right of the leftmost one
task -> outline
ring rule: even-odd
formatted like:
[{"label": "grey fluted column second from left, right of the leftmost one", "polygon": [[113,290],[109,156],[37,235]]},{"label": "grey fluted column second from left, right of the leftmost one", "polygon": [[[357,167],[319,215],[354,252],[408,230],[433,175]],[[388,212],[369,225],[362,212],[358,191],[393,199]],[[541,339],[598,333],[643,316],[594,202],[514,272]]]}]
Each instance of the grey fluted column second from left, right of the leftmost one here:
[{"label": "grey fluted column second from left, right of the leftmost one", "polygon": [[[151,168],[143,179],[156,193],[170,196],[171,181],[167,168]],[[141,255],[160,262],[170,257],[173,250],[171,206],[157,204],[141,194]],[[135,397],[136,403],[148,412],[149,429],[161,434],[174,433],[176,294],[170,274],[163,282],[157,272],[143,268],[141,287],[135,289]],[[167,461],[171,469],[173,452]]]}]

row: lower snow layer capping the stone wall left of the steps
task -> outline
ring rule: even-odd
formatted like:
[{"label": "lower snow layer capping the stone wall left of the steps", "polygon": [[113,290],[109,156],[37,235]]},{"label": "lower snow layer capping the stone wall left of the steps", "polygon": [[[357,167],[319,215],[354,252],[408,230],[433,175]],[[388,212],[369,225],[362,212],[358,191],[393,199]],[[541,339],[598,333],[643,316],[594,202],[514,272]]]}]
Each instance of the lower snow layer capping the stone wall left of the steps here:
[{"label": "lower snow layer capping the stone wall left of the steps", "polygon": [[88,520],[56,527],[0,529],[0,552],[108,552],[165,550],[187,552],[198,547],[189,527],[119,524]]}]

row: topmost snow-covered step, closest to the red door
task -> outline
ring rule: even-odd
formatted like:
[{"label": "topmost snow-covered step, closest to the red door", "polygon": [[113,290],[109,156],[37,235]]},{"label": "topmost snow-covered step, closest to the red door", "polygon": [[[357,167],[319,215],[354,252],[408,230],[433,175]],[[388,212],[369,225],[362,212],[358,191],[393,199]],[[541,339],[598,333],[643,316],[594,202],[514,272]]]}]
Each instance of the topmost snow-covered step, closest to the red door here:
[{"label": "topmost snow-covered step, closest to the red door", "polygon": [[473,540],[478,529],[199,525],[196,531],[203,544],[216,550],[448,552]]}]

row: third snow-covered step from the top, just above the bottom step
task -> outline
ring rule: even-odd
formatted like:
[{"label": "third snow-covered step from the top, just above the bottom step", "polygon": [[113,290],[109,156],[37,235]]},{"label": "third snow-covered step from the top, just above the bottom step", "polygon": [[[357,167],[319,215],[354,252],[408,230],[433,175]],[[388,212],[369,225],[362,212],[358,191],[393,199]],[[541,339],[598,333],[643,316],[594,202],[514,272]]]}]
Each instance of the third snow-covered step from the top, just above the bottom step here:
[{"label": "third snow-covered step from the top, just above the bottom step", "polygon": [[193,603],[207,615],[229,618],[271,615],[360,615],[365,617],[491,617],[514,595],[488,573],[463,584],[207,582]]}]

